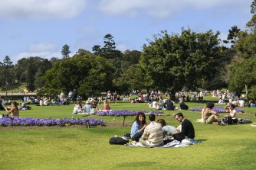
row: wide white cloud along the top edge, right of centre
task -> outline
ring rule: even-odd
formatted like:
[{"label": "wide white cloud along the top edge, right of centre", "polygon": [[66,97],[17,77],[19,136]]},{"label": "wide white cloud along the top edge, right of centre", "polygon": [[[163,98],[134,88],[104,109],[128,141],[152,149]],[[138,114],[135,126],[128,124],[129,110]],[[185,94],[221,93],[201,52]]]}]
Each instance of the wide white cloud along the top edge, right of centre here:
[{"label": "wide white cloud along the top edge, right of centre", "polygon": [[105,14],[134,16],[143,11],[156,18],[168,18],[187,9],[202,10],[243,4],[241,0],[101,0],[99,8]]}]

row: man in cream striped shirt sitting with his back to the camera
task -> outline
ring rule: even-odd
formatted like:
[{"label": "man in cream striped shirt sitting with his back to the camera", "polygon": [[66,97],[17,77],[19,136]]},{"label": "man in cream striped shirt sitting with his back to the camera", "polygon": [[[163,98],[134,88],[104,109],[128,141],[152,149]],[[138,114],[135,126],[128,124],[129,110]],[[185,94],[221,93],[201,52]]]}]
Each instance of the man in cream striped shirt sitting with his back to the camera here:
[{"label": "man in cream striped shirt sitting with his back to the camera", "polygon": [[139,143],[143,146],[162,146],[162,125],[160,123],[156,123],[155,120],[155,114],[149,114],[149,125],[146,126],[143,136],[139,138]]}]

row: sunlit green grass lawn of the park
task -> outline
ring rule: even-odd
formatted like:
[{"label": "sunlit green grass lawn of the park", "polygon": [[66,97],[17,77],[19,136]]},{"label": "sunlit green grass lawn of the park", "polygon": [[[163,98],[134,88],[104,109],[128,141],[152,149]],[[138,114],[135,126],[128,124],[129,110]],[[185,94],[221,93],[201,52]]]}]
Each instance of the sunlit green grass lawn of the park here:
[{"label": "sunlit green grass lawn of the park", "polygon": [[[189,107],[204,104],[187,103]],[[72,117],[74,105],[39,107],[31,105],[30,111],[20,111],[21,117]],[[99,107],[102,107],[100,105]],[[114,110],[151,110],[146,104],[111,104]],[[251,114],[241,114],[253,122],[255,108],[243,108]],[[178,126],[172,115],[178,111],[165,111],[167,123]],[[29,129],[0,128],[0,169],[254,169],[256,167],[256,127],[250,124],[233,126],[196,123],[199,112],[182,111],[192,120],[195,139],[205,140],[183,148],[138,148],[112,146],[108,143],[114,135],[130,132],[127,117],[120,127],[49,127]],[[85,118],[73,115],[74,118]],[[100,117],[105,122],[123,122],[123,117]],[[223,117],[223,114],[222,114]]]}]

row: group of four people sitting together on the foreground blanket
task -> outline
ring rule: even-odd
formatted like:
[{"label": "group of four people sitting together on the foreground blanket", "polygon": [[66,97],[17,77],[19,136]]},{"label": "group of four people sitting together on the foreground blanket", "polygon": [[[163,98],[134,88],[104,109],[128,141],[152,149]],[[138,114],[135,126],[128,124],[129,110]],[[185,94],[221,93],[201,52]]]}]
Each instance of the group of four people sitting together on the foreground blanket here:
[{"label": "group of four people sitting together on the foreground blanket", "polygon": [[179,127],[166,125],[164,119],[156,121],[155,114],[149,114],[149,123],[146,123],[145,114],[139,112],[131,128],[131,139],[141,146],[149,147],[162,146],[173,140],[194,140],[195,129],[192,122],[185,119],[182,113],[175,114],[174,118],[181,123]]}]

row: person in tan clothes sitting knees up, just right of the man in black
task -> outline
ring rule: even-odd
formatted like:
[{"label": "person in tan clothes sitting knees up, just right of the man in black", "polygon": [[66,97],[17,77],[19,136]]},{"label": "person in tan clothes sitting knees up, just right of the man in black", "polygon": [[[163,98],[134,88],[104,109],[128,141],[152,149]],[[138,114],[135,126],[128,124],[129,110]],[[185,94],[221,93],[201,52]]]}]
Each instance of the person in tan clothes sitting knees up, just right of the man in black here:
[{"label": "person in tan clothes sitting knees up, just right of the man in black", "polygon": [[212,124],[213,122],[221,122],[219,115],[215,111],[212,111],[213,107],[214,104],[212,102],[208,102],[206,103],[204,111],[202,111],[203,121],[206,124]]}]

